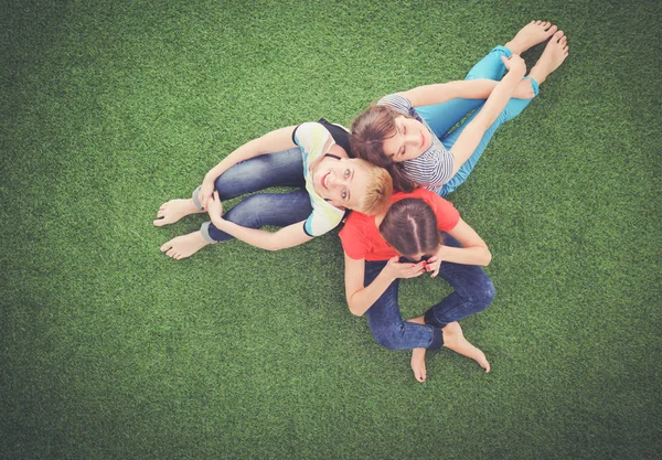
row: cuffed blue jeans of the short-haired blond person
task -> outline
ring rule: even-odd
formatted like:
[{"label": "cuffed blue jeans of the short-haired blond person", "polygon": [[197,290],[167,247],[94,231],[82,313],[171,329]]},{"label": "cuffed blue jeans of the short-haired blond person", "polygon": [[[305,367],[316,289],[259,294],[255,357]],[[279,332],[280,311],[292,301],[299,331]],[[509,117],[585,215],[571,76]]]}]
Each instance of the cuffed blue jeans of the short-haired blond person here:
[{"label": "cuffed blue jeans of the short-haired blond person", "polygon": [[[260,228],[265,225],[286,227],[306,221],[312,213],[299,148],[242,161],[216,178],[214,182],[214,190],[218,191],[221,200],[231,200],[270,186],[295,186],[298,190],[289,193],[249,195],[223,214],[223,218],[248,228]],[[202,208],[197,200],[199,190],[200,188],[193,192],[193,202]],[[202,236],[210,243],[234,238],[221,232],[211,222],[202,224],[200,229]]]}]

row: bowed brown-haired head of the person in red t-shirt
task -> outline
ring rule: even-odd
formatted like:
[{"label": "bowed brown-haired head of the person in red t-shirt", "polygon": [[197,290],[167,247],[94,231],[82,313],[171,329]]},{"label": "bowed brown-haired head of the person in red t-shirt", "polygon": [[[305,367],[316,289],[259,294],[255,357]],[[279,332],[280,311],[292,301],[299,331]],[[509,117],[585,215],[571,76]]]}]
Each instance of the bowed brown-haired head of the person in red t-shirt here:
[{"label": "bowed brown-haired head of the person in red t-shirt", "polygon": [[420,199],[404,199],[391,205],[380,233],[401,255],[431,255],[441,243],[437,216]]}]

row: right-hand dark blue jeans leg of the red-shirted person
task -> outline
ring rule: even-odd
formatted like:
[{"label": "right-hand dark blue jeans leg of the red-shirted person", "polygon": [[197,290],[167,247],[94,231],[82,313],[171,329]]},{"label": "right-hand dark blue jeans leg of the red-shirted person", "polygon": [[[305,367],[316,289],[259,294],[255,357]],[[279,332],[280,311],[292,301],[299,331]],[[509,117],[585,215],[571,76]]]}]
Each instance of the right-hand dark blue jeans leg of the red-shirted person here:
[{"label": "right-hand dark blue jeans leg of the red-shirted person", "polygon": [[[447,234],[444,235],[444,244],[461,247],[457,239]],[[448,281],[455,292],[425,312],[426,324],[445,328],[487,309],[494,299],[494,285],[479,266],[442,261],[438,277]]]}]

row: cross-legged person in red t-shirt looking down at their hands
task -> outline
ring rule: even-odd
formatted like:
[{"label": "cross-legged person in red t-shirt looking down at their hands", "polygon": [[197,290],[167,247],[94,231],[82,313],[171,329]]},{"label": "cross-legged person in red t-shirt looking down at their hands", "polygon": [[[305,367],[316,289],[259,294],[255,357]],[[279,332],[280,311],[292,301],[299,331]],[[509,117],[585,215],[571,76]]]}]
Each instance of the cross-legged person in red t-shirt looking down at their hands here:
[{"label": "cross-legged person in red t-shirt looking down at their hands", "polygon": [[[413,349],[412,368],[419,382],[426,379],[426,349],[440,346],[476,360],[489,372],[485,355],[465,339],[458,323],[488,308],[494,298],[492,281],[479,267],[491,260],[488,246],[451,203],[433,192],[396,193],[392,203],[385,215],[352,213],[340,232],[350,311],[367,317],[381,345]],[[423,317],[403,321],[399,279],[426,271],[446,279],[455,292]]]}]

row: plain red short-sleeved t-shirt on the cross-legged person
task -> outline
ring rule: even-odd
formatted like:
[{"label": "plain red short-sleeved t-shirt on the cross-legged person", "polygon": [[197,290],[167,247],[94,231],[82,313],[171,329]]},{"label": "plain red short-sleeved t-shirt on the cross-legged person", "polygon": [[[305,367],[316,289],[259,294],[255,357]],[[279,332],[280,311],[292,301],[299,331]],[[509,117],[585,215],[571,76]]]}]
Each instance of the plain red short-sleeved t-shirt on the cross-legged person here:
[{"label": "plain red short-sleeved t-shirt on the cross-legged person", "polygon": [[[434,192],[423,188],[416,189],[412,193],[397,192],[393,194],[391,203],[404,199],[421,199],[429,204],[437,216],[437,228],[442,232],[453,229],[460,222],[458,210]],[[340,231],[340,240],[346,255],[354,260],[388,260],[398,256],[396,250],[388,246],[380,235],[374,215],[352,212]]]}]

